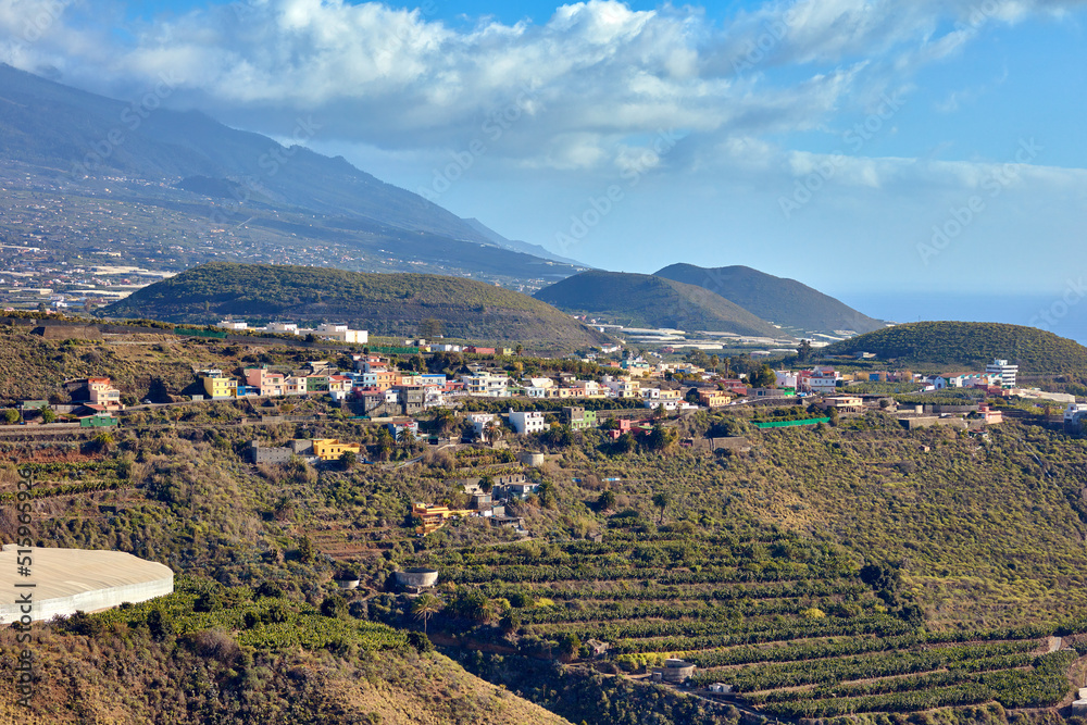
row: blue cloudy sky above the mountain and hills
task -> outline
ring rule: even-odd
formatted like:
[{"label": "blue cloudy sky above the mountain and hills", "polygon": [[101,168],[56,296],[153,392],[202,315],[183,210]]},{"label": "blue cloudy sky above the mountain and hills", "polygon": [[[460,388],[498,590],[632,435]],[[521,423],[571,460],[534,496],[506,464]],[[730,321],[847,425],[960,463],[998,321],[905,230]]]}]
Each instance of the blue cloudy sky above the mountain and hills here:
[{"label": "blue cloudy sky above the mountain and hills", "polygon": [[746,264],[885,317],[1022,299],[1008,322],[1060,333],[1087,314],[1085,21],[1084,0],[0,0],[0,60],[122,99],[168,78],[168,105],[283,140],[309,120],[314,150],[594,266]]}]

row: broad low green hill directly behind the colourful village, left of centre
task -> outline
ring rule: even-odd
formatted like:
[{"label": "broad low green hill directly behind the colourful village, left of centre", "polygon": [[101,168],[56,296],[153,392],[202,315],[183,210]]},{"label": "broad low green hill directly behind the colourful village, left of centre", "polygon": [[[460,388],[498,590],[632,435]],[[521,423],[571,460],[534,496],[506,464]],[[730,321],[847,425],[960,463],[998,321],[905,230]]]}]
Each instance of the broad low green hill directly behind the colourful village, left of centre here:
[{"label": "broad low green hill directly behind the colourful village, left of centre", "polygon": [[608,340],[548,304],[474,279],[267,264],[203,264],[145,287],[104,314],[174,323],[215,323],[225,315],[345,322],[388,336],[414,335],[424,320],[437,320],[447,337],[538,349]]}]

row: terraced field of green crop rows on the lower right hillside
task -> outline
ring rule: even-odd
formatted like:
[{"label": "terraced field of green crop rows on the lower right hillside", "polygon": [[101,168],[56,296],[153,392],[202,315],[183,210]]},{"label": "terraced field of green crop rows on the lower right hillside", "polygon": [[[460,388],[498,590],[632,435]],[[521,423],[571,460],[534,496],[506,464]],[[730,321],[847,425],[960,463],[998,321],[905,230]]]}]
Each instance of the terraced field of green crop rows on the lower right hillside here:
[{"label": "terraced field of green crop rows on the lower right hillside", "polygon": [[1079,655],[1067,638],[1048,651],[1054,627],[927,632],[892,570],[858,570],[832,545],[773,528],[736,529],[611,530],[601,542],[465,547],[417,563],[448,572],[459,599],[475,590],[508,605],[523,649],[600,639],[611,648],[592,664],[632,674],[679,657],[698,665],[695,685],[729,684],[777,716],[1049,707],[1071,691]]}]

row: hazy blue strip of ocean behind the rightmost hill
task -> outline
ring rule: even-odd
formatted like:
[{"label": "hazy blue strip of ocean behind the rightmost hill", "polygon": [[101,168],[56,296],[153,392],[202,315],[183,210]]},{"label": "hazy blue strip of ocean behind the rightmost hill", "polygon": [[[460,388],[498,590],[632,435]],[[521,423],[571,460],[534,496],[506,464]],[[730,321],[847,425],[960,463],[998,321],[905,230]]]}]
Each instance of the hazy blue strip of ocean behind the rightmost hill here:
[{"label": "hazy blue strip of ocean behind the rightmost hill", "polygon": [[870,292],[836,297],[879,320],[899,323],[920,320],[1003,322],[1038,327],[1087,345],[1087,297],[1080,299],[1077,291],[1071,289],[1058,290],[1053,295]]}]

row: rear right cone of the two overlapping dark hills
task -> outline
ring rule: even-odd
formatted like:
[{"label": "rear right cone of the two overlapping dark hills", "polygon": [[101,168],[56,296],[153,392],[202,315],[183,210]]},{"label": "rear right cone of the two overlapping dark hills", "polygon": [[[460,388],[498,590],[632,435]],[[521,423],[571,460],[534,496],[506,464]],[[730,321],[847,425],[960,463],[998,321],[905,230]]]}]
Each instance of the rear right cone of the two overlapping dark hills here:
[{"label": "rear right cone of the two overlapping dark hills", "polygon": [[796,279],[786,279],[746,266],[707,268],[694,264],[672,264],[657,272],[666,277],[716,292],[776,325],[799,334],[851,329],[867,333],[883,323],[812,289]]}]

